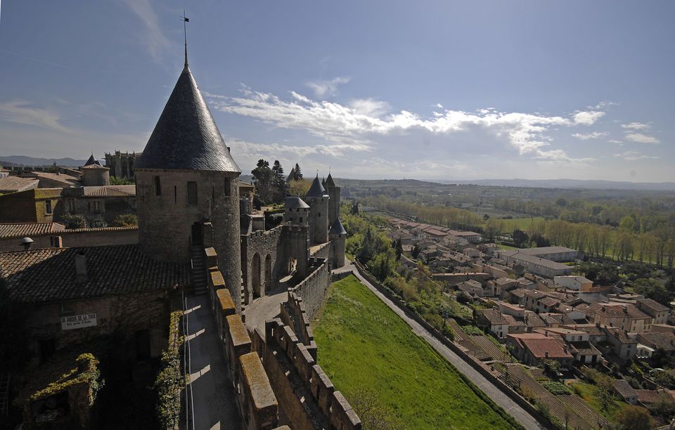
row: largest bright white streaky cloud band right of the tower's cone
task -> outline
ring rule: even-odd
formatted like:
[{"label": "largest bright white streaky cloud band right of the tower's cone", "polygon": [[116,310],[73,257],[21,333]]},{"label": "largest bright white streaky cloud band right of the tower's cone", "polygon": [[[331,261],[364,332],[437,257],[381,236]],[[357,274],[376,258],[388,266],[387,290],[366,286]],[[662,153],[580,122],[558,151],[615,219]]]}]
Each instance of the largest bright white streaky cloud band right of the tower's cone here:
[{"label": "largest bright white streaky cloud band right of the tower's cone", "polygon": [[564,150],[551,148],[552,139],[546,132],[555,126],[593,124],[604,112],[575,112],[572,117],[545,116],[521,112],[499,112],[492,108],[479,113],[459,110],[435,112],[432,117],[420,117],[401,110],[383,115],[389,105],[363,99],[342,105],[326,100],[311,100],[292,92],[291,100],[271,93],[240,90],[238,97],[213,96],[206,93],[214,109],[231,112],[274,124],[281,129],[300,129],[311,135],[339,145],[373,145],[376,136],[401,136],[413,131],[432,135],[450,135],[461,131],[487,131],[496,138],[506,138],[520,155],[558,162],[589,161],[574,159]]}]

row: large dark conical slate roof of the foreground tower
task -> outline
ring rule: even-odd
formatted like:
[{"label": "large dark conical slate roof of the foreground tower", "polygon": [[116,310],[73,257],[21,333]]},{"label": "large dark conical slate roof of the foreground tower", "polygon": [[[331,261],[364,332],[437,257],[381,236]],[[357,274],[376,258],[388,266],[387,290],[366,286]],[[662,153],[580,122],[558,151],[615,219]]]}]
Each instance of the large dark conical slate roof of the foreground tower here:
[{"label": "large dark conical slate roof of the foreground tower", "polygon": [[187,65],[134,169],[241,173]]}]

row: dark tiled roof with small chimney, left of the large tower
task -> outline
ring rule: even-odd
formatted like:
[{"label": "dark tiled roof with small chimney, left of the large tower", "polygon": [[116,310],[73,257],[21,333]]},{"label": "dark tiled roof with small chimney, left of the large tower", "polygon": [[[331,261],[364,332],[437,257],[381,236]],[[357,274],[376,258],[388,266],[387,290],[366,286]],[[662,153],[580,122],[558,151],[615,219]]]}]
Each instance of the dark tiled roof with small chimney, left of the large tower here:
[{"label": "dark tiled roof with small chimney, left of the large tower", "polygon": [[[79,282],[75,256],[86,256],[86,278]],[[47,248],[0,253],[0,276],[13,301],[48,303],[171,289],[190,282],[186,263],[150,259],[139,245]]]}]

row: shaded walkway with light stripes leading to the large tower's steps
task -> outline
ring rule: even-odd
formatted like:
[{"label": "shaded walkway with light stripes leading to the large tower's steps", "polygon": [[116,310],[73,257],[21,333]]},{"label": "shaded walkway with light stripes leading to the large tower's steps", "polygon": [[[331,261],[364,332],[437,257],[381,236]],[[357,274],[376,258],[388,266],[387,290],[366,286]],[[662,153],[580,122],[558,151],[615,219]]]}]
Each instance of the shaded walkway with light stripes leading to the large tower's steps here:
[{"label": "shaded walkway with light stripes leading to the large tower's steps", "polygon": [[[216,323],[206,295],[187,297],[188,336],[186,354],[191,361],[188,372],[188,400],[192,398],[193,422],[189,430],[241,429],[242,419],[232,383],[226,376],[226,361]],[[185,318],[185,317],[184,317]],[[191,393],[192,391],[192,393]],[[188,404],[188,411],[189,411]],[[193,426],[194,424],[194,426]],[[185,429],[181,423],[181,429]]]}]

